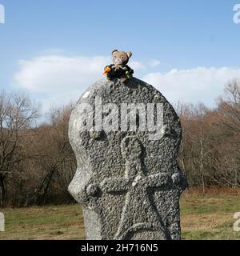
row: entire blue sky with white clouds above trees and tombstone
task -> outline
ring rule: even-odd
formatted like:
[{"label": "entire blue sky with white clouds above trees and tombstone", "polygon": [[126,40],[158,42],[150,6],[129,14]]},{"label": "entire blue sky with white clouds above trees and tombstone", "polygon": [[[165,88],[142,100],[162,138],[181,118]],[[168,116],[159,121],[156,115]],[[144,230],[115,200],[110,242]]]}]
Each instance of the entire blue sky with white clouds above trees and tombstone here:
[{"label": "entire blue sky with white clouds above trees and tombstone", "polygon": [[224,83],[240,77],[237,3],[0,0],[0,88],[22,90],[46,109],[76,100],[117,48],[133,52],[135,76],[170,102],[214,106]]}]

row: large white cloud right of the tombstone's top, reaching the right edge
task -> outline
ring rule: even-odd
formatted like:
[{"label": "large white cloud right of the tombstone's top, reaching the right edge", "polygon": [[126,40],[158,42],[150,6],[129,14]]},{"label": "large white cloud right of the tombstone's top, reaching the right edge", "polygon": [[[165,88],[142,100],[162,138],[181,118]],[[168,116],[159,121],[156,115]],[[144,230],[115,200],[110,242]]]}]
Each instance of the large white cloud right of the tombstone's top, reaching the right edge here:
[{"label": "large white cloud right of the tombstone's top, reaching the right edge", "polygon": [[226,82],[240,77],[240,68],[197,67],[190,70],[170,70],[166,74],[146,74],[144,81],[155,86],[170,102],[204,102],[214,105]]}]

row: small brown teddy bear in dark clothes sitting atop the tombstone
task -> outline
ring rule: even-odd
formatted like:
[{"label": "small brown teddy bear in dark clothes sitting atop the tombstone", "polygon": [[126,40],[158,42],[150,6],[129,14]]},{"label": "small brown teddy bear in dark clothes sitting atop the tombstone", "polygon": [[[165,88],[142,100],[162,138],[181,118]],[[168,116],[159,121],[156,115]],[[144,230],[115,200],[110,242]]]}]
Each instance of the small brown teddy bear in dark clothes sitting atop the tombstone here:
[{"label": "small brown teddy bear in dark clothes sitting atop the tombstone", "polygon": [[134,70],[127,66],[126,63],[129,61],[132,53],[130,51],[112,51],[113,62],[105,67],[103,74],[106,78],[113,79],[119,78],[121,82],[126,82],[128,78],[131,78],[134,74]]}]

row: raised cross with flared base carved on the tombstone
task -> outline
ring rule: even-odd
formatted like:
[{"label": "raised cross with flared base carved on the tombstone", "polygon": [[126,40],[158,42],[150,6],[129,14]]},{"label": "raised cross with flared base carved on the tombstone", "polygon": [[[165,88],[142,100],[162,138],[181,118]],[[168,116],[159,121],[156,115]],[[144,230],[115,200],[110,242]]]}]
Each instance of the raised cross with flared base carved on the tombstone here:
[{"label": "raised cross with flared base carved on the tombstone", "polygon": [[139,230],[157,231],[163,239],[167,232],[162,218],[150,201],[149,189],[164,189],[170,186],[170,174],[144,174],[142,168],[142,144],[135,136],[122,140],[122,156],[126,161],[124,177],[106,178],[101,189],[106,193],[126,192],[118,231],[114,239],[127,239]]}]

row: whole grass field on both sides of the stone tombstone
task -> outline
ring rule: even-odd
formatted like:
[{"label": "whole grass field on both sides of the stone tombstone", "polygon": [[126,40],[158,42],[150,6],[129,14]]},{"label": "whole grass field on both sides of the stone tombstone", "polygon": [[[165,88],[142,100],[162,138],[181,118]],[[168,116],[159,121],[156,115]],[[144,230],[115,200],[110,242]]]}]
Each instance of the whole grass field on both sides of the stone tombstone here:
[{"label": "whole grass field on both sides of the stone tombstone", "polygon": [[[6,231],[0,239],[84,239],[78,205],[6,208]],[[210,191],[204,196],[188,191],[181,198],[182,239],[240,239],[233,230],[240,212],[240,192]]]}]

